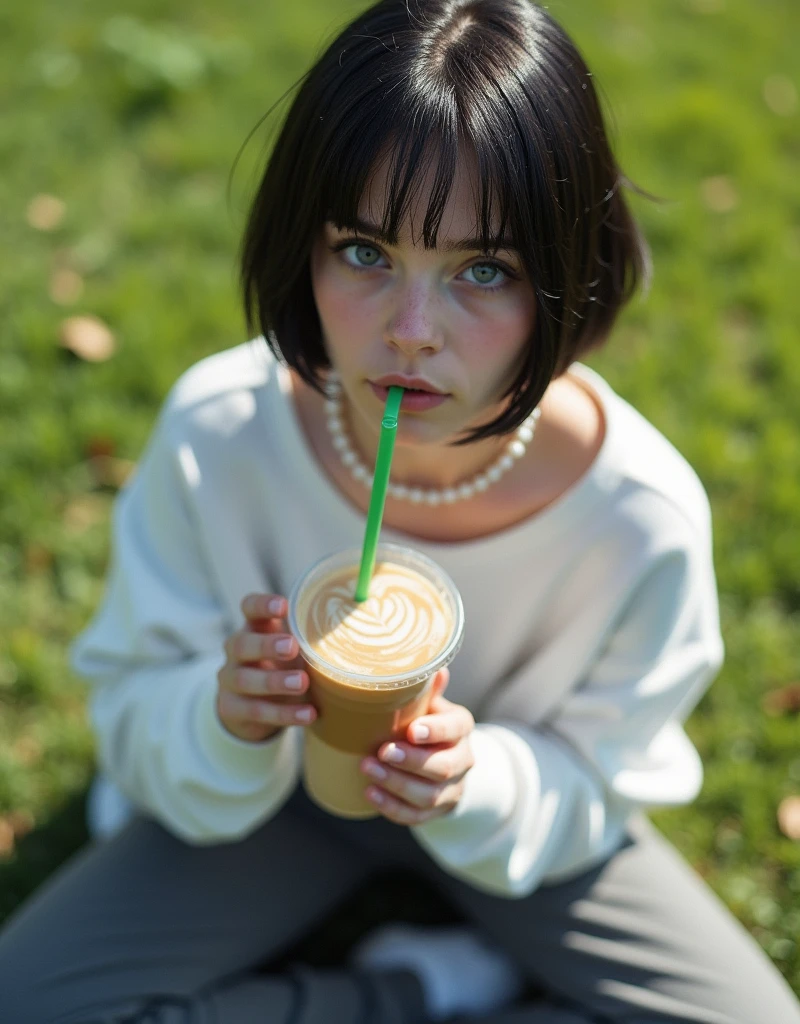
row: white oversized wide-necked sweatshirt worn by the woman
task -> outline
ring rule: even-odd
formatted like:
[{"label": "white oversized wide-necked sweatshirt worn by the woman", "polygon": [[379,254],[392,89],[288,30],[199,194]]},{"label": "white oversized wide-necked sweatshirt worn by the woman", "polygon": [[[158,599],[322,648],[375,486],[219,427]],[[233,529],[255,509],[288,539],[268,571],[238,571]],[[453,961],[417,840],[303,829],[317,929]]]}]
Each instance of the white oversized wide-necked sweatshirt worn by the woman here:
[{"label": "white oversized wide-necked sweatshirt worn by the woman", "polygon": [[[458,807],[412,831],[445,870],[507,897],[607,856],[632,811],[697,796],[682,726],[723,656],[703,485],[602,377],[572,373],[606,429],[556,502],[466,542],[381,532],[458,586],[447,695],[477,723]],[[322,471],[262,339],[172,389],[118,498],[106,594],[72,664],[91,684],[102,770],[184,840],[246,836],[298,784],[300,727],[251,743],[219,722],[223,643],[246,594],[288,595],[313,562],[360,546],[365,519]]]}]

